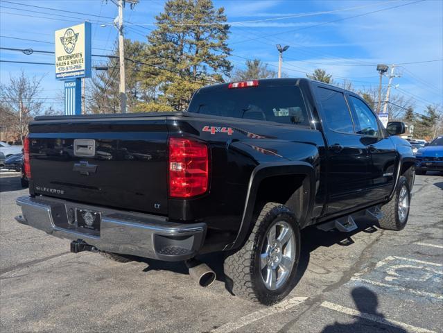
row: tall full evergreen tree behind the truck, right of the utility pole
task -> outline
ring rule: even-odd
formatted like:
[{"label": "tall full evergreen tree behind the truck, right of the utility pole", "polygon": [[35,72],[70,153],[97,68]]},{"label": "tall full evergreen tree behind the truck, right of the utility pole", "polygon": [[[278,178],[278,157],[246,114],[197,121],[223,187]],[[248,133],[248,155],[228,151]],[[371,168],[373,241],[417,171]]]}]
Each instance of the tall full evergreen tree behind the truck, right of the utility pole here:
[{"label": "tall full evergreen tree behind the truck, right of the utility pole", "polygon": [[186,110],[196,89],[223,82],[232,69],[224,8],[214,8],[211,0],[168,0],[155,19],[144,54],[151,66],[142,67],[141,85],[155,89],[157,97],[137,110]]}]

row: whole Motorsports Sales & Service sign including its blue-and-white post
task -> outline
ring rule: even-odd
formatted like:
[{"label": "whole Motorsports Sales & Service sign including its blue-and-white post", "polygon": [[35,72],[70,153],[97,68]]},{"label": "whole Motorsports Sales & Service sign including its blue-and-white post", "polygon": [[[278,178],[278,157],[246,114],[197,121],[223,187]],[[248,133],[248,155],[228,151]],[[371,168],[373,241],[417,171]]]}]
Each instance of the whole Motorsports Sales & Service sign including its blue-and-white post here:
[{"label": "whole Motorsports Sales & Service sign including its blue-and-white post", "polygon": [[91,24],[55,31],[55,78],[64,80],[64,114],[82,113],[81,78],[91,77]]}]

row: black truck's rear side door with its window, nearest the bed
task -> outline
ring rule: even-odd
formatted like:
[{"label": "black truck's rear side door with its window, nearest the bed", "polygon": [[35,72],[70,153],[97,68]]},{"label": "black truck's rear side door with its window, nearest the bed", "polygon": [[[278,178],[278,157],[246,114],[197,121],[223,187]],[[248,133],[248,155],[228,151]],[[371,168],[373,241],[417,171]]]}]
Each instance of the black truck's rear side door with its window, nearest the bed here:
[{"label": "black truck's rear side door with its window, nearest the bed", "polygon": [[372,183],[370,155],[362,135],[355,133],[354,120],[342,89],[313,85],[328,144],[329,215],[367,202],[366,191]]}]

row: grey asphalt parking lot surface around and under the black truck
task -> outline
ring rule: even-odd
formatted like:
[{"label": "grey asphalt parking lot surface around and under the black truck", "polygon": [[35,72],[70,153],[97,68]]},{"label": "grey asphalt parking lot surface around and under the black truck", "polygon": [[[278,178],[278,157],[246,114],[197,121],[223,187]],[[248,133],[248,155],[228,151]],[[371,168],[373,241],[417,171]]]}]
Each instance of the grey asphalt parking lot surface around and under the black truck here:
[{"label": "grey asphalt parking lot surface around and under the black truck", "polygon": [[401,232],[359,221],[351,234],[302,232],[299,283],[262,307],[197,287],[181,263],[119,264],[69,253],[20,225],[19,177],[0,176],[1,332],[443,332],[443,177],[417,176]]}]

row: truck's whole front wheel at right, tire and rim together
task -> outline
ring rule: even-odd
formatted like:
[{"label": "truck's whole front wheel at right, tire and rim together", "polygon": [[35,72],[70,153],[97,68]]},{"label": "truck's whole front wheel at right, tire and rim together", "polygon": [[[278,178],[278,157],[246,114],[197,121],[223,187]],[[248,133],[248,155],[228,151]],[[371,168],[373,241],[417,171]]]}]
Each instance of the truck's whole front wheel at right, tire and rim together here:
[{"label": "truck's whole front wheel at right, tire and rim together", "polygon": [[395,194],[389,203],[381,207],[383,218],[380,227],[388,230],[402,230],[408,222],[410,207],[410,189],[406,177],[401,176]]}]

